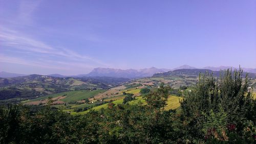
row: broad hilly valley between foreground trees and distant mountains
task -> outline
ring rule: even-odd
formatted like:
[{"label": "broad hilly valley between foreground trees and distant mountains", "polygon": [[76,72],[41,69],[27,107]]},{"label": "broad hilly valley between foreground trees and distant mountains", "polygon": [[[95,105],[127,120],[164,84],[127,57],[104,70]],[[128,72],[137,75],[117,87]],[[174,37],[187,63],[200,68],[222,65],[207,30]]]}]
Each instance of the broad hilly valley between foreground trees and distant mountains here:
[{"label": "broad hilly valley between foreground trees and distant mountains", "polygon": [[[51,107],[71,114],[84,114],[90,110],[105,109],[109,103],[122,104],[129,96],[134,100],[127,104],[145,104],[141,89],[155,91],[163,83],[172,87],[165,109],[177,109],[184,95],[196,85],[199,75],[206,73],[218,77],[222,72],[209,69],[176,69],[137,79],[98,76],[60,78],[41,75],[1,78],[0,103],[20,102],[23,105],[44,106],[51,101]],[[248,73],[248,76],[251,78],[249,84],[255,92],[255,74]]]}]

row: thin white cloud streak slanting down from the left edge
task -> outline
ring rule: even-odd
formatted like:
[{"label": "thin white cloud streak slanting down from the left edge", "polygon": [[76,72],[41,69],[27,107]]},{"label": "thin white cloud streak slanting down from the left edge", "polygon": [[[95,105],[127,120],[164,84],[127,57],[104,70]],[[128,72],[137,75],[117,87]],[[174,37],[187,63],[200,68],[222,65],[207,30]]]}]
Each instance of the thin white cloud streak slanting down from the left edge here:
[{"label": "thin white cloud streak slanting down from the left edge", "polygon": [[65,48],[56,48],[48,45],[42,41],[35,40],[25,34],[21,34],[17,31],[2,28],[0,31],[1,45],[8,46],[8,49],[22,50],[24,52],[32,52],[39,54],[46,54],[58,57],[65,57],[68,60],[80,61],[80,62],[91,62],[98,66],[106,66],[105,64],[97,59],[89,56],[80,55],[72,50]]}]

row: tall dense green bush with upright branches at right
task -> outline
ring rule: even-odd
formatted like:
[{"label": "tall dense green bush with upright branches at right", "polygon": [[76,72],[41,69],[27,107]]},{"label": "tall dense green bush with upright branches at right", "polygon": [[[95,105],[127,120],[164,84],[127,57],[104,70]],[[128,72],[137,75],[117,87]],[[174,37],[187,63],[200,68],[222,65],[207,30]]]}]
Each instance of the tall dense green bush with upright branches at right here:
[{"label": "tall dense green bush with upright branches at right", "polygon": [[[233,125],[236,127],[233,133],[242,139],[246,122],[255,122],[255,103],[247,87],[248,78],[242,79],[241,68],[234,70],[233,74],[231,70],[226,70],[224,77],[220,79],[211,74],[200,76],[193,91],[189,92],[181,103],[185,126],[191,131],[187,135],[204,139],[207,137],[206,128],[210,131],[214,128],[219,135],[215,136],[215,140],[225,141],[228,134],[224,127]],[[225,132],[227,138],[223,135],[221,137],[220,131],[223,131],[222,134]]]}]

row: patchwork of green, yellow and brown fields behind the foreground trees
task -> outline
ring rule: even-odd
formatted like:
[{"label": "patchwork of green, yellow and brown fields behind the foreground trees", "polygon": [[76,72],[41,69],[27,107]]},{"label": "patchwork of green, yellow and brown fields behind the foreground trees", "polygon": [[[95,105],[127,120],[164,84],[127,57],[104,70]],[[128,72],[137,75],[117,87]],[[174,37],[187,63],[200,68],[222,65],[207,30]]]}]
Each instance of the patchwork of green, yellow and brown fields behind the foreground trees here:
[{"label": "patchwork of green, yellow and brown fields behind the foreground trees", "polygon": [[[163,80],[163,78],[151,78],[150,80]],[[151,86],[148,83],[148,79],[142,79],[143,83],[133,82],[132,85],[127,86],[121,85],[118,87],[111,88],[109,90],[75,90],[68,92],[61,92],[56,94],[46,95],[33,100],[24,101],[23,104],[27,105],[44,105],[47,103],[49,97],[53,100],[53,107],[60,108],[64,107],[63,111],[70,112],[71,114],[84,114],[90,110],[100,110],[108,108],[108,103],[111,101],[115,105],[122,104],[123,99],[126,97],[125,93],[132,93],[135,95],[135,100],[127,102],[130,105],[137,105],[139,103],[146,104],[145,98],[140,96],[141,88]],[[166,81],[167,82],[167,81]],[[151,87],[156,89],[156,87]],[[125,92],[125,93],[123,93]],[[256,99],[256,92],[253,92],[253,97]],[[87,102],[85,101],[87,99]],[[182,97],[175,95],[169,95],[165,110],[178,109],[180,102],[183,100]],[[82,111],[76,111],[82,109]]]}]

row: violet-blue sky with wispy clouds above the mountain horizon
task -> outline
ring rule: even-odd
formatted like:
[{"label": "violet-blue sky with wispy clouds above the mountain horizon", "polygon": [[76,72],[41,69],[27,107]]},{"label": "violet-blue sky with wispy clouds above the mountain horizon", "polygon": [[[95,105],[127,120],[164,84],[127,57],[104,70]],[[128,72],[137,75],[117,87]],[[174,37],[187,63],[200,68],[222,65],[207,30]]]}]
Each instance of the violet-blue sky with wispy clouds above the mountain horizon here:
[{"label": "violet-blue sky with wispy clouds above the mountain horizon", "polygon": [[256,68],[256,1],[3,1],[0,71]]}]

